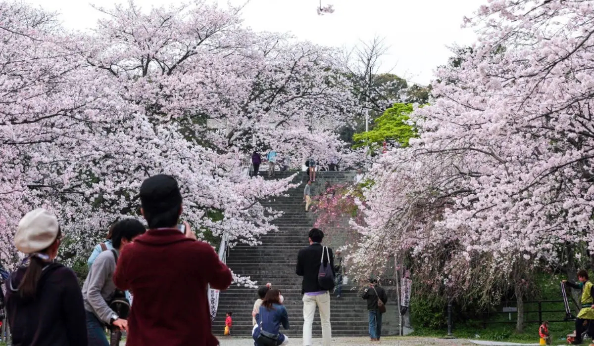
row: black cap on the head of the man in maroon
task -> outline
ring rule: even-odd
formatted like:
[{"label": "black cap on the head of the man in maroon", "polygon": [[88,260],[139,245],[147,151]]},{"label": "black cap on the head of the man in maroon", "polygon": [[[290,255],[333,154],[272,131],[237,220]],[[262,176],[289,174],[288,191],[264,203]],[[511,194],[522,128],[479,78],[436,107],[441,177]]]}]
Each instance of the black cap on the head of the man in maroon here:
[{"label": "black cap on the head of the man in maroon", "polygon": [[157,214],[182,204],[178,182],[166,174],[152,176],[140,185],[140,204],[146,212]]}]

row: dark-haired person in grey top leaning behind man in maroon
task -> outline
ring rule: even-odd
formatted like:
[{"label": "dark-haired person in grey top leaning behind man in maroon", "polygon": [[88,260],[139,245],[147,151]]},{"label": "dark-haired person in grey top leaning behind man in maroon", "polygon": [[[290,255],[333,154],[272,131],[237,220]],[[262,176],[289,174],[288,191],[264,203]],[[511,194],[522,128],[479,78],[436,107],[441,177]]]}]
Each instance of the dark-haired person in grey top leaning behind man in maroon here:
[{"label": "dark-haired person in grey top leaning behind man in maroon", "polygon": [[125,331],[128,322],[125,316],[118,316],[110,303],[115,298],[124,298],[113,283],[118,254],[124,246],[146,231],[140,221],[127,218],[118,221],[112,228],[114,249],[103,251],[97,256],[83,285],[84,309],[86,310],[89,346],[109,346],[105,336],[105,325]]}]

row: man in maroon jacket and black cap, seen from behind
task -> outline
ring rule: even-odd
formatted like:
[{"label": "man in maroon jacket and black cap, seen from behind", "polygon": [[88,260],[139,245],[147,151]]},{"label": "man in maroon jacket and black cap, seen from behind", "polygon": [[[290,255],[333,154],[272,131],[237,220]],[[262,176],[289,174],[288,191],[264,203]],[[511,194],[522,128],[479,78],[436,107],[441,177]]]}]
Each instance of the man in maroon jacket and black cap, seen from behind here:
[{"label": "man in maroon jacket and black cap, seen from behind", "polygon": [[127,346],[214,346],[207,288],[225,290],[229,268],[185,223],[177,228],[182,197],[163,174],[140,186],[141,212],[149,231],[122,251],[113,281],[134,294]]}]

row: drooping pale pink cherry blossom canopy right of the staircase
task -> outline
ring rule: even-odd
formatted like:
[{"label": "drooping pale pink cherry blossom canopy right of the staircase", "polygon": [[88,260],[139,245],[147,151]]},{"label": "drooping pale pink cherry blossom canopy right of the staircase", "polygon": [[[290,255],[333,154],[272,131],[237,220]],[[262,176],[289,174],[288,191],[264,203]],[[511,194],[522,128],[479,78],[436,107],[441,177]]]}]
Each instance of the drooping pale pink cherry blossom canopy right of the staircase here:
[{"label": "drooping pale pink cherry blossom canopy right of the staircase", "polygon": [[513,288],[519,300],[535,269],[574,273],[567,256],[594,246],[593,7],[492,0],[466,20],[478,42],[438,69],[435,101],[411,117],[421,138],[371,173],[351,258],[362,272],[404,252],[440,294]]}]

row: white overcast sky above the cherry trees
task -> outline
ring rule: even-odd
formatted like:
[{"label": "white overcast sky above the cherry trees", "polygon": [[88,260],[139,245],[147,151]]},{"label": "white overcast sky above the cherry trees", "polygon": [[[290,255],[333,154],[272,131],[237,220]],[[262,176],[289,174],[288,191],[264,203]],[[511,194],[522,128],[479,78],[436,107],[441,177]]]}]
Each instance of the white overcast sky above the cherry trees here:
[{"label": "white overcast sky above the cherry trees", "polygon": [[[100,14],[90,4],[112,7],[125,0],[26,0],[61,12],[65,26],[92,27]],[[227,0],[219,1],[226,4]],[[233,5],[245,0],[229,0]],[[181,0],[137,0],[143,8],[182,3]],[[251,0],[242,15],[255,30],[291,32],[320,45],[352,47],[375,36],[385,39],[388,53],[382,72],[393,72],[412,82],[428,84],[433,71],[451,56],[447,46],[469,45],[472,31],[460,28],[486,0],[322,0],[334,13],[318,15],[319,0]]]}]

